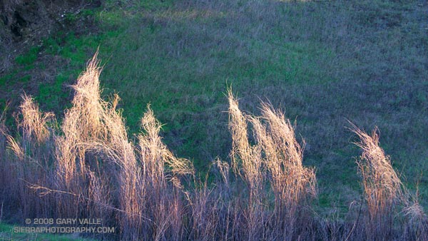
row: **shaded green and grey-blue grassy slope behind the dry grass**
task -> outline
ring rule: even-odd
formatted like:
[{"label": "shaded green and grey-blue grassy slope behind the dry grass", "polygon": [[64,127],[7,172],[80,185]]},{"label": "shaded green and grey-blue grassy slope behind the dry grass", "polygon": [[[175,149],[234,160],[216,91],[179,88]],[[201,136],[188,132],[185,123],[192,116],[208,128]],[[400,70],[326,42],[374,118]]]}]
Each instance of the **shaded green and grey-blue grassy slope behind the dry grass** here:
[{"label": "shaded green and grey-blue grassy slope behind the dry grass", "polygon": [[[423,1],[141,1],[83,14],[95,16],[100,31],[56,34],[17,58],[16,71],[0,76],[12,93],[3,101],[23,88],[44,110],[61,114],[66,84],[99,45],[104,93],[119,93],[131,131],[152,103],[169,148],[200,169],[228,157],[224,93],[231,84],[243,110],[259,113],[259,98],[269,99],[297,120],[321,205],[338,198],[347,205],[361,193],[347,119],[366,130],[379,126],[382,147],[411,185],[428,170]],[[48,83],[25,75],[46,67],[34,58],[39,51],[66,63],[52,73],[46,68],[54,76]],[[420,181],[426,200],[427,176]]]}]

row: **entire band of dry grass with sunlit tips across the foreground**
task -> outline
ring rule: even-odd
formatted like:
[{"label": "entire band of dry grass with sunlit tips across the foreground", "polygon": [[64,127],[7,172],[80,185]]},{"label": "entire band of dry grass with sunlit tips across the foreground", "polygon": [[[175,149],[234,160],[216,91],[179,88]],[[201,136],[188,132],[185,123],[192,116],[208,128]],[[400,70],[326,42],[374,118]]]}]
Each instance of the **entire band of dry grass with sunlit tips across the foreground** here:
[{"label": "entire band of dry grass with sunlit tips across the foreground", "polygon": [[72,86],[61,125],[29,96],[15,137],[2,118],[0,202],[9,220],[102,218],[118,228],[103,238],[116,240],[427,240],[427,216],[376,131],[352,125],[362,148],[364,208],[326,219],[312,208],[315,168],[303,165],[305,145],[281,111],[262,103],[261,116],[243,113],[229,91],[230,163],[215,160],[203,181],[162,142],[150,106],[138,141],[130,140],[118,96],[101,98],[100,71],[95,55]]}]

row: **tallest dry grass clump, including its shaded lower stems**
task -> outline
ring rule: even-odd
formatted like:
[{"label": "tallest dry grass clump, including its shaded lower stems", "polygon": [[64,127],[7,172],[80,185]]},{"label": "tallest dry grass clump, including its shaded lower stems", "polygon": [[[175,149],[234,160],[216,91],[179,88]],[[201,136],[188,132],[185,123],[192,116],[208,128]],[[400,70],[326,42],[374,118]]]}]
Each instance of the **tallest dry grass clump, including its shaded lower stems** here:
[{"label": "tallest dry grass clump, including its shaded lower stems", "polygon": [[[56,175],[52,188],[74,194],[61,198],[58,203],[58,212],[66,215],[80,214],[80,210],[85,209],[98,210],[93,202],[106,205],[104,200],[108,200],[110,195],[101,190],[104,185],[109,185],[108,178],[103,178],[109,177],[109,173],[99,165],[108,164],[102,164],[99,159],[114,163],[119,159],[116,150],[123,148],[123,145],[108,141],[108,133],[113,131],[116,134],[123,127],[121,122],[116,122],[118,125],[111,128],[111,121],[117,118],[111,108],[116,106],[101,100],[98,79],[101,69],[96,60],[97,54],[72,86],[75,90],[72,107],[65,112],[62,133],[55,137]],[[123,135],[116,138],[123,138]]]}]

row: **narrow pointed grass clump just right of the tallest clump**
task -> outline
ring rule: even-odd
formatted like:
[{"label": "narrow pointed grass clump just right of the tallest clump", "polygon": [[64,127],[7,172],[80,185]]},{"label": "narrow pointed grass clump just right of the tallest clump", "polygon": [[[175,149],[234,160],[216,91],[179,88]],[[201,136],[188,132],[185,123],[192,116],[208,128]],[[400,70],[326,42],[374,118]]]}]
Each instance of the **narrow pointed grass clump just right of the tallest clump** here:
[{"label": "narrow pointed grass clump just right of the tallest clump", "polygon": [[[164,240],[165,238],[177,240],[183,235],[184,205],[180,198],[183,194],[181,192],[183,185],[180,177],[193,175],[193,164],[189,160],[175,158],[162,143],[159,136],[161,123],[156,120],[150,106],[141,119],[141,126],[143,133],[138,135],[141,166],[138,166],[138,170],[135,172],[138,175],[133,177],[133,180],[136,180],[133,182],[136,189],[126,190],[131,197],[132,193],[138,190],[138,199],[134,200],[138,203],[129,203],[126,207],[132,210],[135,210],[136,206],[141,207],[139,213],[143,214],[146,220],[136,217],[140,219],[138,222],[143,223],[138,227],[143,235],[140,237],[147,240]],[[133,175],[131,170],[126,173]],[[128,200],[130,195],[123,196]]]}]

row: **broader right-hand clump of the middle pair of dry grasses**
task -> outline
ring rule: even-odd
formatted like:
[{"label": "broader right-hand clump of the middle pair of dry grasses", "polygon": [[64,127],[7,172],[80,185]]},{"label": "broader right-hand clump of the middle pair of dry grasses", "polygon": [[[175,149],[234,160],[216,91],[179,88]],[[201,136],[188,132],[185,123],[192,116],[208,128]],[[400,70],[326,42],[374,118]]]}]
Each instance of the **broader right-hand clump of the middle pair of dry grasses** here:
[{"label": "broader right-hand clump of the middle pair of dry grasses", "polygon": [[262,116],[249,120],[263,150],[263,164],[275,195],[274,220],[285,237],[292,239],[293,232],[302,225],[296,223],[298,216],[304,215],[298,212],[307,198],[317,196],[315,170],[302,165],[303,148],[295,138],[290,120],[267,103],[262,103],[261,111]]}]

